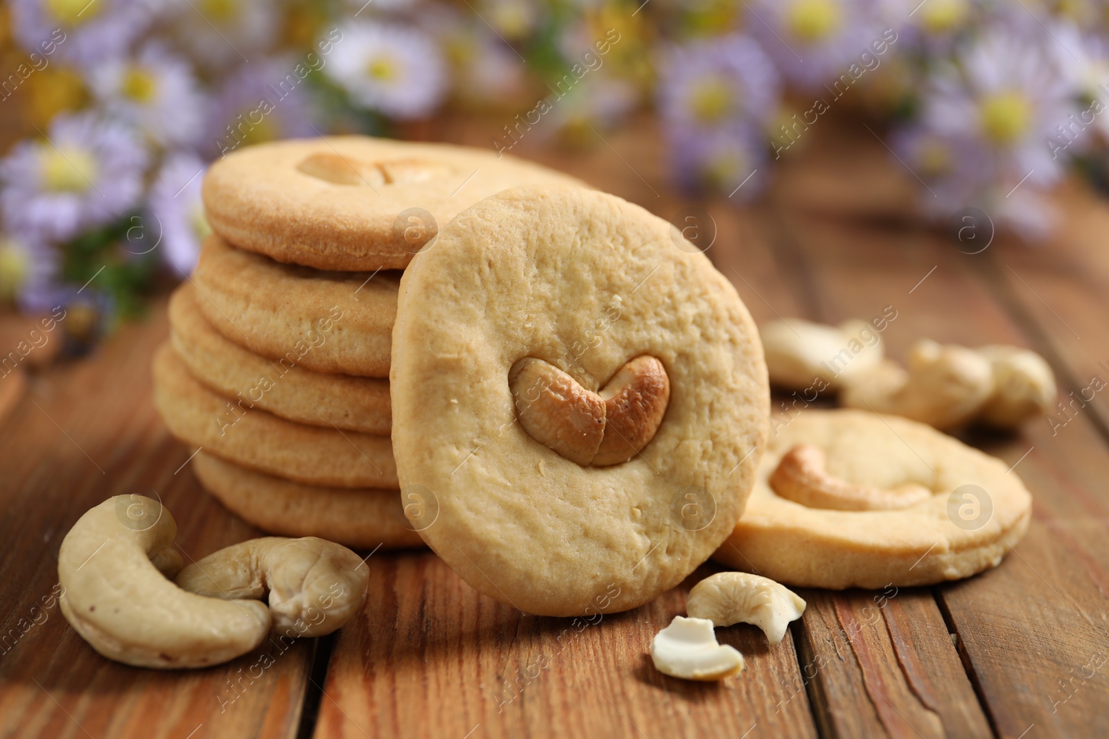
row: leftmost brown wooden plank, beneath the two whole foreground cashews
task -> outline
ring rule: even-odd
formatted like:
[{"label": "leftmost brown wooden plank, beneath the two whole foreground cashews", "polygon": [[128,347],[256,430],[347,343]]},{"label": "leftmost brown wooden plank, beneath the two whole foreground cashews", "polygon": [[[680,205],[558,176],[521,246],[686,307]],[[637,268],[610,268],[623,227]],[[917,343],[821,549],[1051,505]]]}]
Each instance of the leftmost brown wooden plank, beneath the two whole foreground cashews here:
[{"label": "leftmost brown wooden plank, beneath the two whole foreground cashews", "polygon": [[[0,736],[296,735],[311,642],[205,670],[140,669],[93,651],[57,606],[61,540],[110,495],[156,494],[186,562],[258,533],[179,471],[192,450],[169,437],[150,399],[151,353],[166,336],[159,301],[93,357],[33,379],[0,429]],[[265,653],[274,664],[264,669]]]}]

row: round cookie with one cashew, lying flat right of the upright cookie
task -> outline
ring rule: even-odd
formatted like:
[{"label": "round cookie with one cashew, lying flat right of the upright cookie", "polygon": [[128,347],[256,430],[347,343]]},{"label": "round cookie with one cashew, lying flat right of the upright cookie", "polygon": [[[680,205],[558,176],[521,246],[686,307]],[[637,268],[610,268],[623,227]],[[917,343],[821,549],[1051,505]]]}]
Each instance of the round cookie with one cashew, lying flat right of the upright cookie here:
[{"label": "round cookie with one cashew, lying flat right of the upright cookie", "polygon": [[[853,410],[806,410],[772,425],[746,512],[714,555],[724,564],[794,586],[930,585],[997,566],[1028,530],[1031,495],[1016,473],[932,427]],[[775,472],[798,445],[821,450],[826,472],[856,490],[926,494],[894,510],[811,507]]]}]

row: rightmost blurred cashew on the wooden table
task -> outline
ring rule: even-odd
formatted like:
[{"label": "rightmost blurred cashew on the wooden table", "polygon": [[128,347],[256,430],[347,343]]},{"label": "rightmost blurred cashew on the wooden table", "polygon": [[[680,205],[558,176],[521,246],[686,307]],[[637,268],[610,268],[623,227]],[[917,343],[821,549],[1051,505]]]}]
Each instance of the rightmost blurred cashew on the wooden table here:
[{"label": "rightmost blurred cashew on the wooden table", "polygon": [[994,394],[979,412],[979,420],[1013,429],[1028,418],[1051,412],[1055,374],[1042,357],[1028,349],[996,345],[979,347],[978,353],[994,367]]}]

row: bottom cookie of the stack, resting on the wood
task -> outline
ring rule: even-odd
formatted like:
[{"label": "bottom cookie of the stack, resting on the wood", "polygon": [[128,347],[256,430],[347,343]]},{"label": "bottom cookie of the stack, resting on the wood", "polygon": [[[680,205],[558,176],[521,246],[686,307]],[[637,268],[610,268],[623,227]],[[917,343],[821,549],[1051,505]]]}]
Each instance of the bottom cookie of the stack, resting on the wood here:
[{"label": "bottom cookie of the stack, resting on the wood", "polygon": [[228,511],[273,534],[319,536],[358,548],[424,545],[405,519],[395,490],[304,485],[206,452],[193,459],[193,470]]}]

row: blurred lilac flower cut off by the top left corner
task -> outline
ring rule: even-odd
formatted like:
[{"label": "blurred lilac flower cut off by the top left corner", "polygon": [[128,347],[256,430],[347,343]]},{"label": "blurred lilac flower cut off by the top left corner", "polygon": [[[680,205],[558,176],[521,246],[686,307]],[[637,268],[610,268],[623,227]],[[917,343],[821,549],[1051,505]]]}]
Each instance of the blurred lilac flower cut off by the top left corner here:
[{"label": "blurred lilac flower cut off by the top left corner", "polygon": [[152,20],[146,0],[13,0],[11,17],[24,49],[53,42],[57,59],[80,64],[123,55]]}]

